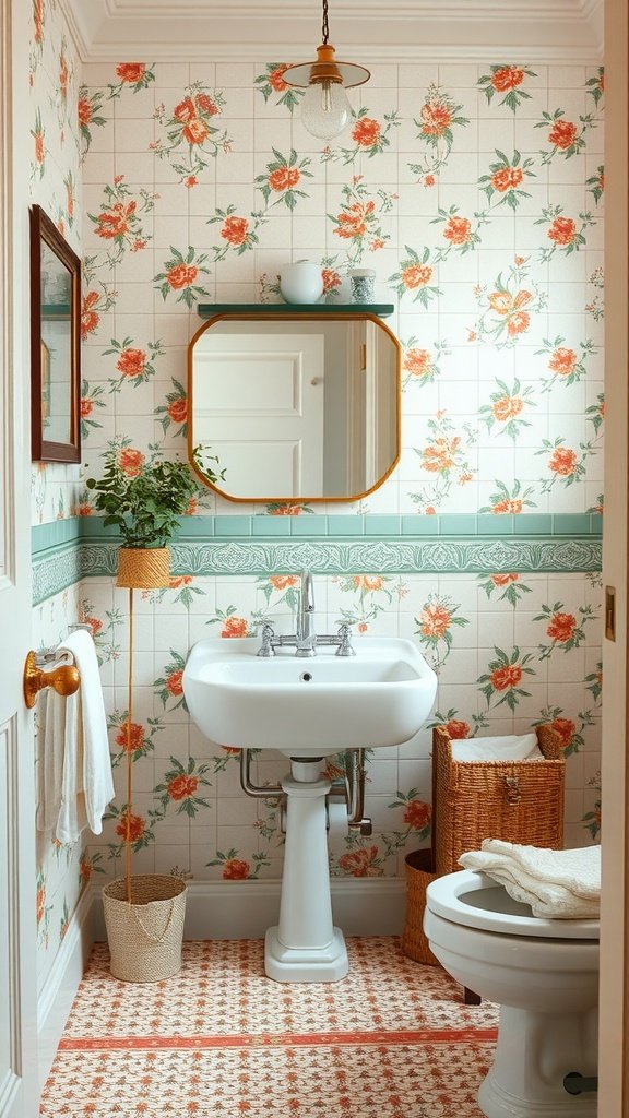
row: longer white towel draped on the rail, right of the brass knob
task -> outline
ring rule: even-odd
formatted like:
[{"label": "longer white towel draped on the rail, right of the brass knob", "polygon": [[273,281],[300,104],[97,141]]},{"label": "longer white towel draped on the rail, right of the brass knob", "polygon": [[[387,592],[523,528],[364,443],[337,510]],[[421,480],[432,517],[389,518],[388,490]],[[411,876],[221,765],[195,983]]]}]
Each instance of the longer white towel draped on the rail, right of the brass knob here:
[{"label": "longer white towel draped on the rail, right of the brass knob", "polygon": [[71,633],[58,654],[71,653],[81,685],[66,702],[65,756],[62,804],[56,835],[59,842],[76,842],[88,826],[100,835],[103,815],[114,798],[107,740],[105,704],[96,650],[85,629]]}]

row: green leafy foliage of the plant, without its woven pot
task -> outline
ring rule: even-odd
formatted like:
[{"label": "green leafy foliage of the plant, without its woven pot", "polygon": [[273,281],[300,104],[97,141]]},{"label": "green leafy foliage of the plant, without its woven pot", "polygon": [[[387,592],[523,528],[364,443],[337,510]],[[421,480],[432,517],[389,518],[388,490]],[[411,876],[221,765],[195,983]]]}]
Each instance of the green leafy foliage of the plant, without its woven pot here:
[{"label": "green leafy foliage of the plant, without its woven pot", "polygon": [[125,548],[163,548],[173,537],[190,498],[198,493],[188,464],[152,458],[133,477],[120,468],[115,452],[105,456],[100,481],[85,482],[105,513],[105,527],[115,525]]}]

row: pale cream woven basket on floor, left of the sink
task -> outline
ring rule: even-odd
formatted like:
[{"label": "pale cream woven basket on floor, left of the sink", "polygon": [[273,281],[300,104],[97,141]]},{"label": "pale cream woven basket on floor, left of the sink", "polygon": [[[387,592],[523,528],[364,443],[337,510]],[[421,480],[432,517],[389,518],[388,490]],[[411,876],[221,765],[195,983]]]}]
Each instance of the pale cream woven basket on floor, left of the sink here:
[{"label": "pale cream woven basket on floor, left of the sink", "polygon": [[123,982],[160,982],[181,969],[186,882],[168,874],[116,878],[103,889],[111,973]]}]

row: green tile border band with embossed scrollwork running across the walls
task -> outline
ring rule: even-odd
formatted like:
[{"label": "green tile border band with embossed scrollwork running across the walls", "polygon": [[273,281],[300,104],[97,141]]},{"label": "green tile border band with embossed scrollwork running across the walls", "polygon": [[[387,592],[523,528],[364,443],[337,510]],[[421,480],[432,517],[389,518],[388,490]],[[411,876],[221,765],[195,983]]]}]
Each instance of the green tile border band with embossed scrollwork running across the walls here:
[{"label": "green tile border band with embossed scrollwork running across the walls", "polygon": [[[486,517],[349,518],[317,517],[184,518],[172,546],[173,575],[226,576],[287,574],[309,567],[321,575],[344,574],[574,574],[601,570],[601,518],[545,515],[494,518],[506,521],[491,536]],[[548,520],[551,524],[548,524]],[[200,521],[205,522],[201,533]],[[298,521],[298,523],[292,523]],[[383,523],[384,521],[384,523]],[[235,522],[235,523],[234,523]],[[272,525],[271,523],[272,522]],[[409,522],[415,528],[409,530]],[[63,524],[63,528],[58,525]],[[237,527],[240,533],[223,534]],[[293,531],[299,524],[298,531]],[[307,527],[310,532],[307,532]],[[78,527],[78,531],[77,531]],[[273,531],[264,529],[273,527]],[[548,528],[552,531],[548,531]],[[216,531],[220,528],[220,532]],[[327,529],[325,534],[321,530]],[[389,532],[383,529],[389,529]],[[429,531],[430,529],[430,531]],[[533,530],[532,530],[533,529]],[[362,532],[360,532],[362,530]],[[475,531],[476,530],[476,531]],[[112,577],[118,537],[100,518],[56,521],[34,529],[34,604],[81,578]]]}]

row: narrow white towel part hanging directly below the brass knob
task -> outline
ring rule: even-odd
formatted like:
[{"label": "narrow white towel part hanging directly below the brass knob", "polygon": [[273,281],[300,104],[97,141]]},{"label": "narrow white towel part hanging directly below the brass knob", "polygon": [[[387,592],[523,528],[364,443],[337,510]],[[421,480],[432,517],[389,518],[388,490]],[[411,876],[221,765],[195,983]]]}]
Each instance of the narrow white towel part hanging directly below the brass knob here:
[{"label": "narrow white towel part hanging directly below the brass knob", "polygon": [[62,806],[66,732],[66,701],[51,688],[37,702],[37,814],[38,831],[55,831]]}]

